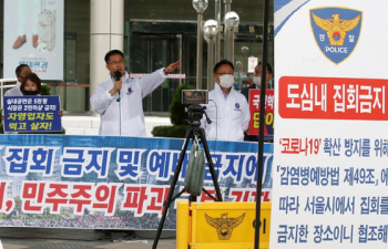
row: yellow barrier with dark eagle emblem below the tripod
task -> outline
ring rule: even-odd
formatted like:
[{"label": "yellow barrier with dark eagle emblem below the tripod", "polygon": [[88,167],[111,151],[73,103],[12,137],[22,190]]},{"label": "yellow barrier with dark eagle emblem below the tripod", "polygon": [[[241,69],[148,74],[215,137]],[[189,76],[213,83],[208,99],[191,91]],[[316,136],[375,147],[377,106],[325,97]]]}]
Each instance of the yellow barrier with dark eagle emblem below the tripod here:
[{"label": "yellow barrier with dark eagle emblem below the tripod", "polygon": [[[255,203],[177,203],[176,249],[252,249]],[[259,248],[269,247],[270,203],[262,203]]]}]

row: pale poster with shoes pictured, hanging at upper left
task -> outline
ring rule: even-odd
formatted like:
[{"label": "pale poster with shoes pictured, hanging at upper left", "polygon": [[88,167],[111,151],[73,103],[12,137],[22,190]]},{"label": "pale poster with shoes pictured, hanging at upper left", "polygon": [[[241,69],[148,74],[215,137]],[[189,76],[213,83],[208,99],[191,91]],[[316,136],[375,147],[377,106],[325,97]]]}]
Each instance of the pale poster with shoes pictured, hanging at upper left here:
[{"label": "pale poster with shoes pictured, hanging at upper left", "polygon": [[4,79],[28,64],[42,80],[63,80],[63,0],[4,0]]}]

